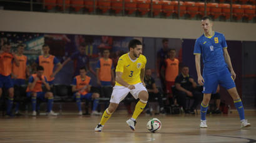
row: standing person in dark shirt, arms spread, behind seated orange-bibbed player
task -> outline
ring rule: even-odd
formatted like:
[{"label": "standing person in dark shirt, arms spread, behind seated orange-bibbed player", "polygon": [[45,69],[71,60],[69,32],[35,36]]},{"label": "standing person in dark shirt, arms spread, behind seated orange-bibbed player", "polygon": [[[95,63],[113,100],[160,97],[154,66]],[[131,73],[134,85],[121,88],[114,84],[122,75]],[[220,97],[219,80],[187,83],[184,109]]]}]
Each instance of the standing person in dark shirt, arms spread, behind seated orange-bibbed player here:
[{"label": "standing person in dark shirt, arms spread, behind seated orange-bibbed player", "polygon": [[79,51],[74,52],[71,57],[67,58],[63,62],[63,66],[66,65],[70,60],[74,60],[74,76],[79,75],[79,70],[81,67],[86,67],[93,75],[96,76],[95,71],[90,66],[90,59],[86,55],[86,44],[81,43],[79,46]]}]

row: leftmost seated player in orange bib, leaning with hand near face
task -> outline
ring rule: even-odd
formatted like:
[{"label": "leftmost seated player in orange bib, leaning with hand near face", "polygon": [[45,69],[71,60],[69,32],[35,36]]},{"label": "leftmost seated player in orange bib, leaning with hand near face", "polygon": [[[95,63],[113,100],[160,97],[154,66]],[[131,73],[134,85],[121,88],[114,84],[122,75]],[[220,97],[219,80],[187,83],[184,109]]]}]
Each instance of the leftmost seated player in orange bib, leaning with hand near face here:
[{"label": "leftmost seated player in orange bib, leaning with hand near face", "polygon": [[[36,73],[31,75],[28,80],[28,88],[26,90],[27,96],[31,97],[32,101],[32,116],[36,116],[36,99],[46,100],[48,99],[47,104],[47,113],[49,116],[57,116],[58,114],[54,113],[53,108],[53,93],[51,93],[49,90],[51,90],[49,83],[46,79],[46,76],[43,75],[44,68],[42,66],[38,66],[36,68]],[[48,90],[47,92],[43,92],[42,85],[46,87]]]}]

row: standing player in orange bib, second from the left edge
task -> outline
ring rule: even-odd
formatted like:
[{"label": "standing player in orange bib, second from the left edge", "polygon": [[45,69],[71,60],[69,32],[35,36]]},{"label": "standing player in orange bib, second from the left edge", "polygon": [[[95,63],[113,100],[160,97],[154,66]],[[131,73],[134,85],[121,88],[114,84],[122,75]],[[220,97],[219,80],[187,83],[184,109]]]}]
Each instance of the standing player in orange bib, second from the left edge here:
[{"label": "standing player in orange bib, second from the left edge", "polygon": [[[29,70],[28,70],[28,58],[23,55],[24,52],[24,45],[18,45],[18,53],[16,54],[17,60],[19,60],[19,67],[16,64],[13,64],[13,72],[12,72],[12,78],[13,78],[13,84],[14,84],[14,90],[16,93],[16,90],[21,90],[21,85],[25,85],[26,77],[29,76]],[[18,92],[21,93],[21,92]],[[15,96],[22,96],[22,95],[16,95]],[[15,97],[19,98],[19,97]],[[16,107],[15,107],[15,115],[21,115],[19,113],[19,101],[16,101]]]}]

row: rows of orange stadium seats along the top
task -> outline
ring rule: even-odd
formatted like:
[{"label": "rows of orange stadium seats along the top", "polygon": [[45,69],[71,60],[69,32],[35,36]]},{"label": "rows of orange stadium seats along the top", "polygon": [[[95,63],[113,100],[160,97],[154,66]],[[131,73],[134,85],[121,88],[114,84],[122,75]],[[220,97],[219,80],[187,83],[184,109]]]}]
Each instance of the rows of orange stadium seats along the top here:
[{"label": "rows of orange stadium seats along the top", "polygon": [[[103,14],[118,16],[160,17],[196,19],[210,15],[223,21],[255,22],[255,0],[224,0],[217,2],[156,1],[156,0],[0,0],[1,6],[9,10],[42,12],[75,12],[79,14]],[[237,4],[250,2],[250,4]],[[244,2],[245,1],[245,2]],[[197,17],[196,17],[197,16]],[[222,17],[222,19],[220,19]],[[235,19],[233,19],[235,17]]]}]

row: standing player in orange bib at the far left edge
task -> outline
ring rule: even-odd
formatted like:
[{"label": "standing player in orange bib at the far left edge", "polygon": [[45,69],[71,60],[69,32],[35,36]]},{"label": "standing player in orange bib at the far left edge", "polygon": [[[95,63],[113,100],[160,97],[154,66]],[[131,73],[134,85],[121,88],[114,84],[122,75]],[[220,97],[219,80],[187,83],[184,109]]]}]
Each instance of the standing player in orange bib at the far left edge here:
[{"label": "standing player in orange bib at the far left edge", "polygon": [[11,113],[14,97],[13,81],[11,80],[13,62],[19,67],[19,60],[14,53],[11,53],[11,44],[9,44],[9,42],[4,42],[0,50],[0,97],[3,93],[2,89],[8,89],[9,98],[6,110],[7,116],[13,116]]}]

